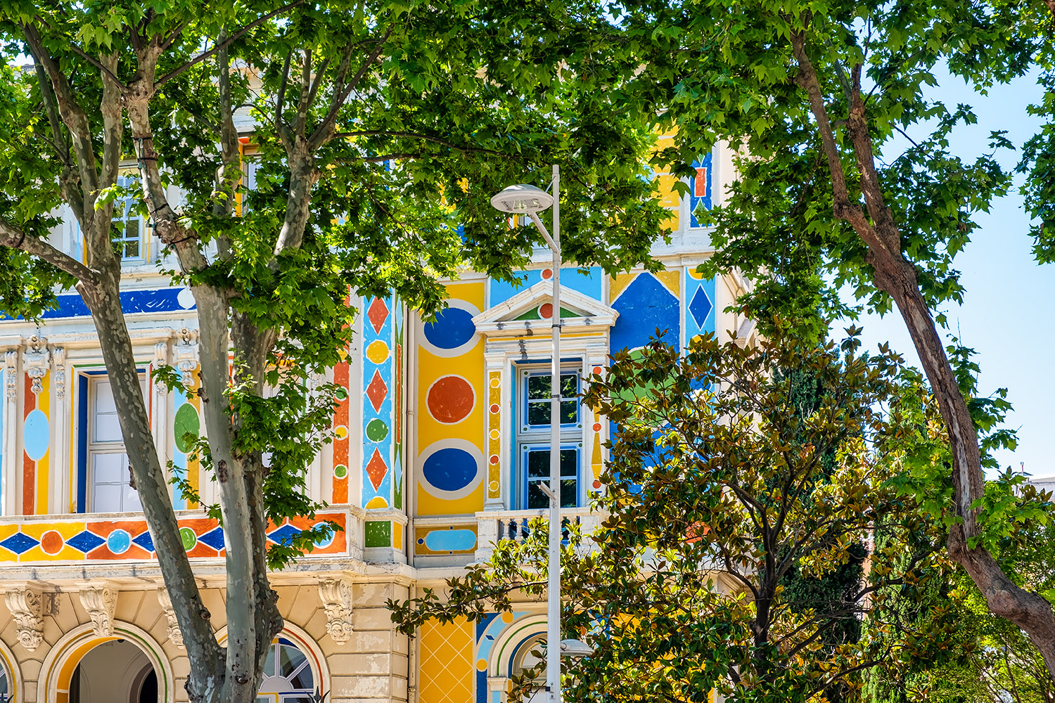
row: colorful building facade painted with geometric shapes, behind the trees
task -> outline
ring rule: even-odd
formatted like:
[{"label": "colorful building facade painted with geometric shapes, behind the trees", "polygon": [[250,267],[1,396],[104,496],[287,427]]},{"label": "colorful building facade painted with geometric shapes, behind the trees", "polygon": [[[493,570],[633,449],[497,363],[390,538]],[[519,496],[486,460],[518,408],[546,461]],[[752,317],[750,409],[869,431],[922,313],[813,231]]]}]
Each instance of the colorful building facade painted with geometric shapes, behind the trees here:
[{"label": "colorful building facade painted with geometric shapes, behind the trees", "polygon": [[[586,525],[598,520],[589,505],[601,488],[609,427],[576,399],[583,378],[657,331],[685,345],[704,332],[747,329],[725,312],[744,282],[696,273],[711,252],[703,213],[730,171],[722,152],[708,155],[686,198],[658,174],[673,233],[653,251],[663,271],[560,272],[561,500]],[[168,366],[193,388],[193,296],[157,273],[158,247],[141,222],[129,220],[122,232],[122,304],[157,449],[213,502],[213,483],[184,441],[202,425],[196,397],[151,380]],[[76,252],[77,236],[66,223],[54,243]],[[384,603],[485,559],[543,505],[555,312],[548,261],[539,251],[520,286],[464,272],[447,281],[449,306],[428,323],[394,296],[353,301],[362,310],[356,341],[328,374],[347,397],[333,442],[308,474],[312,497],[329,507],[314,520],[272,525],[269,538],[281,543],[322,520],[344,530],[272,575],[286,628],[272,644],[262,703],[304,703],[316,688],[331,703],[500,703],[509,678],[530,666],[545,632],[541,604],[407,638]],[[39,324],[0,320],[0,692],[24,703],[186,700],[189,663],[127,486],[88,310],[65,294]],[[178,496],[175,504],[223,640],[223,529],[198,505]]]}]

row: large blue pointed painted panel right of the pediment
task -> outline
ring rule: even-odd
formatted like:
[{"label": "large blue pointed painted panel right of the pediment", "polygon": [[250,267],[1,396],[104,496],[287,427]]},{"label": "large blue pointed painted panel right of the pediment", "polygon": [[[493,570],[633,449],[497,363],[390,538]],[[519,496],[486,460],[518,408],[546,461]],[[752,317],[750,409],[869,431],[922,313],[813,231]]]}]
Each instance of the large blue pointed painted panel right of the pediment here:
[{"label": "large blue pointed painted panel right of the pediment", "polygon": [[612,307],[619,317],[612,326],[612,353],[639,349],[666,331],[664,340],[677,345],[682,338],[680,301],[649,273],[639,273]]}]

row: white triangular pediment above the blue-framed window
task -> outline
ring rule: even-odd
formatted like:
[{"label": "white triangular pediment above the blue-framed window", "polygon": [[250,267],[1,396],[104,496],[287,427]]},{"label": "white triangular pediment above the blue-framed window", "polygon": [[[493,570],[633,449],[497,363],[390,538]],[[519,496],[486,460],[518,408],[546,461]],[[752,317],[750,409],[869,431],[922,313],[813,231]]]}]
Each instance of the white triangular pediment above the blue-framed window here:
[{"label": "white triangular pediment above the blue-framed window", "polygon": [[[541,280],[513,297],[487,308],[473,318],[477,332],[486,336],[532,336],[551,329],[553,282]],[[603,331],[619,313],[589,295],[560,288],[560,324],[579,332]]]}]

